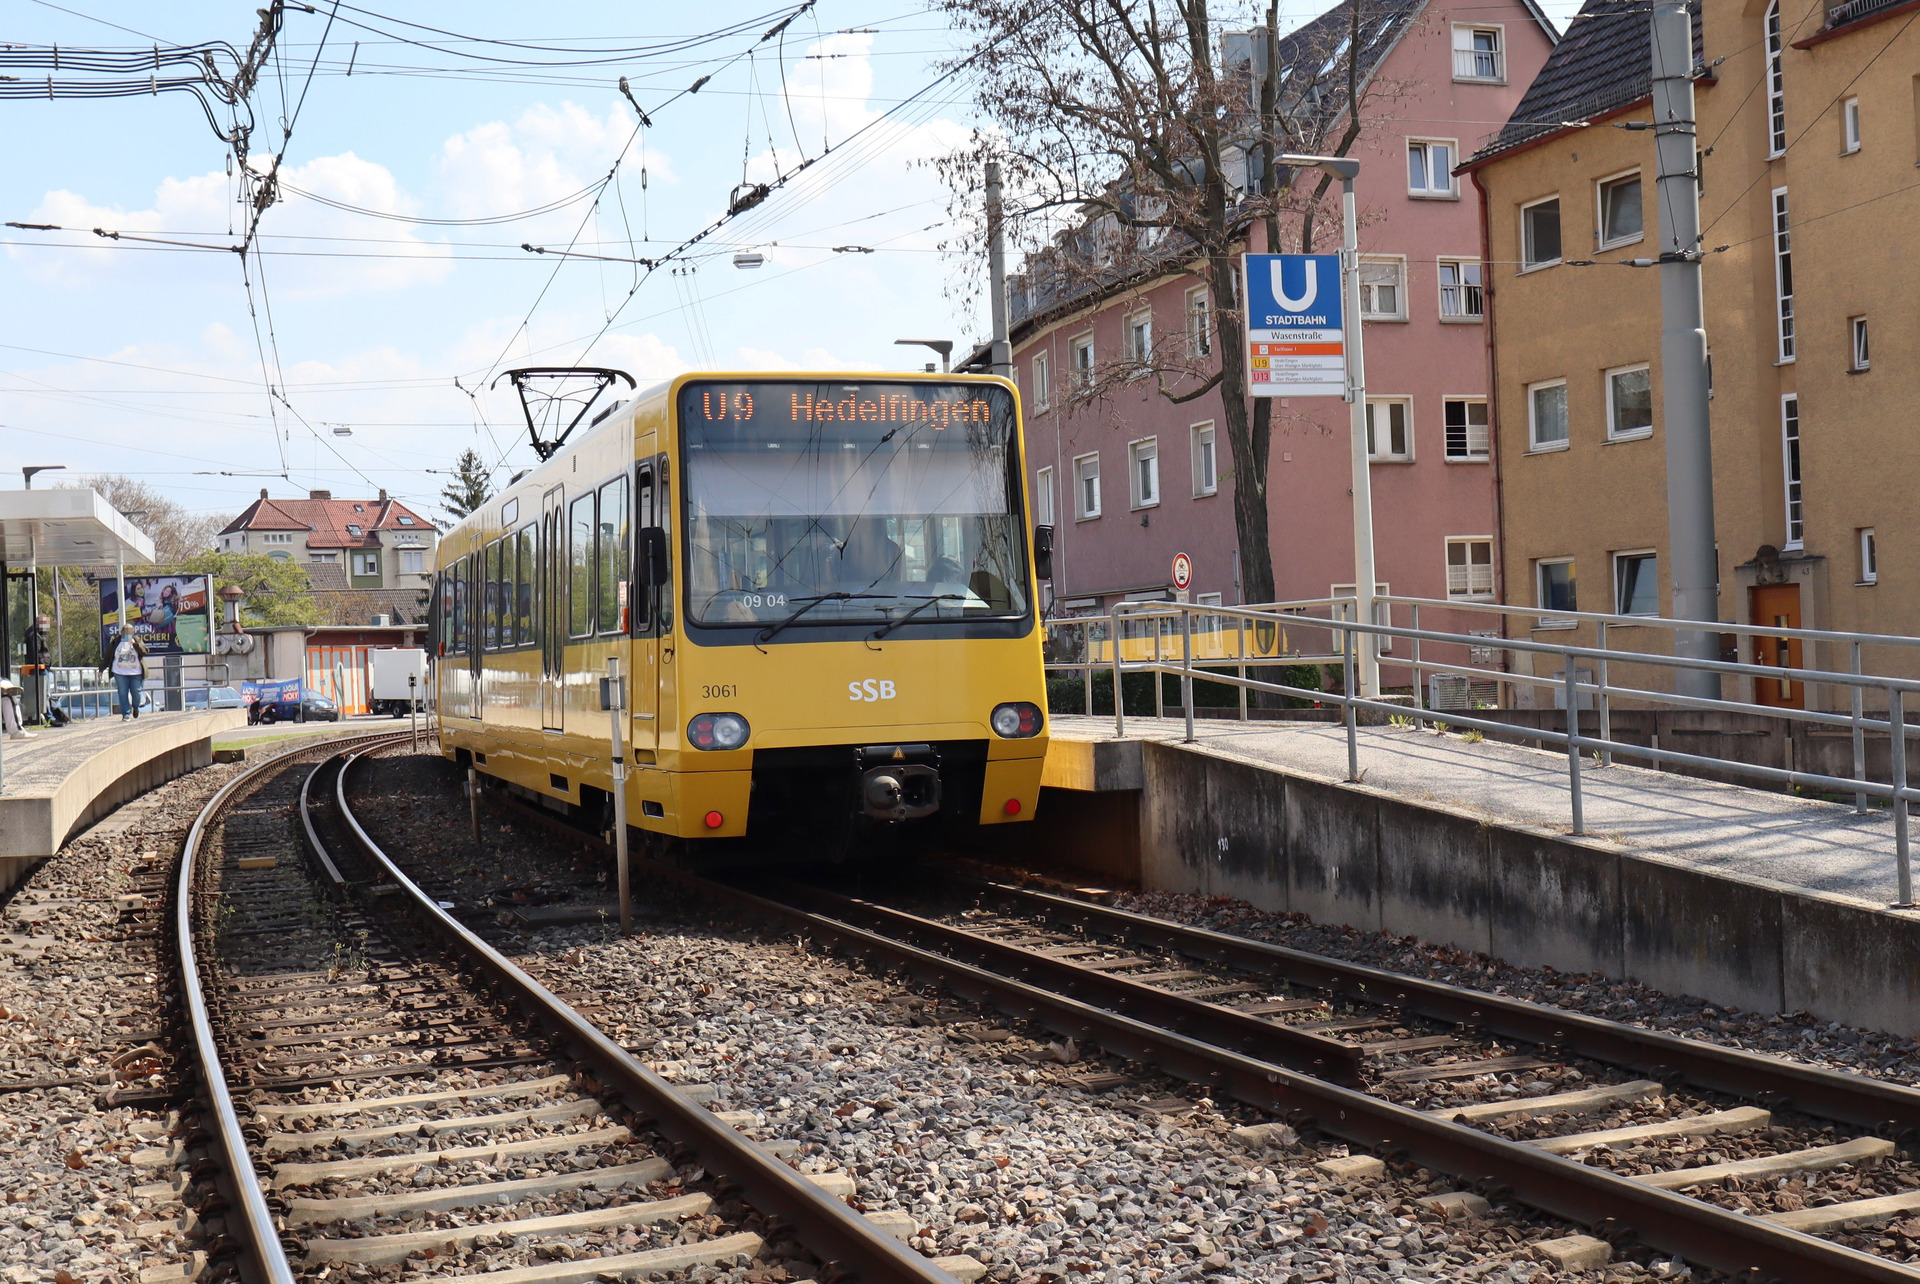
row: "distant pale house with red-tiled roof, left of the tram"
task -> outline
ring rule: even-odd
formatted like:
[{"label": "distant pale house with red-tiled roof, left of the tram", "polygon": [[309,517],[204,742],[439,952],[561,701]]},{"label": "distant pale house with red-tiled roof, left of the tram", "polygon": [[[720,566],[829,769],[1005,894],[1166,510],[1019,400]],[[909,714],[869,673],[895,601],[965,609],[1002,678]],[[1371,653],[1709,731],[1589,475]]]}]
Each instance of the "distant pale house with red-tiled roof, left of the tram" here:
[{"label": "distant pale house with red-tiled roof, left of the tram", "polygon": [[344,587],[426,591],[440,530],[386,491],[378,499],[334,499],[332,491],[273,499],[261,489],[219,541],[223,553],[338,566],[348,582]]}]

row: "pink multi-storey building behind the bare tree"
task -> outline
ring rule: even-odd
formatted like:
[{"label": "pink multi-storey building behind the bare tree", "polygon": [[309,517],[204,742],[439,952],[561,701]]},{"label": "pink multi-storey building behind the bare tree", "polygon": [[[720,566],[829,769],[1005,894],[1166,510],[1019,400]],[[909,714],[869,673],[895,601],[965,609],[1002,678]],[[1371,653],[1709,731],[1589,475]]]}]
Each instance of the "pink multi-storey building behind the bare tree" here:
[{"label": "pink multi-storey building behind the bare tree", "polygon": [[[1340,6],[1284,36],[1281,61],[1288,44],[1325,42],[1327,25],[1344,35],[1348,19]],[[1363,31],[1371,100],[1352,155],[1361,161],[1379,580],[1392,593],[1492,599],[1480,205],[1452,171],[1507,121],[1557,36],[1530,0],[1386,0],[1363,10]],[[1248,36],[1229,35],[1225,46],[1229,65],[1246,61]],[[1315,251],[1338,240],[1336,221],[1323,217]],[[1250,250],[1263,242],[1256,225]],[[1058,614],[1169,597],[1179,551],[1194,560],[1192,601],[1242,601],[1219,393],[1175,405],[1140,378],[1075,395],[1089,367],[1158,353],[1169,340],[1217,361],[1204,276],[1185,267],[1164,259],[1148,269],[1158,276],[1066,299],[1035,297],[1037,282],[1023,278],[1010,288],[1035,520],[1056,528]],[[1281,601],[1352,591],[1348,451],[1346,403],[1275,399],[1269,514]]]}]

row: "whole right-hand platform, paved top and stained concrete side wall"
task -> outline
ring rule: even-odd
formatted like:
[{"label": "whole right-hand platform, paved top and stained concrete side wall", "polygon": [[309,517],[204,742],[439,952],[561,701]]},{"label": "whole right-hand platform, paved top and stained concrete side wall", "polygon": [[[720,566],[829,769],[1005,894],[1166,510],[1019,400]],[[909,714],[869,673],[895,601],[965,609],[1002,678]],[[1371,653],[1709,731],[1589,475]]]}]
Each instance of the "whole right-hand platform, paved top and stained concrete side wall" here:
[{"label": "whole right-hand platform, paved top and stained concrete side wall", "polygon": [[[1033,852],[1523,967],[1920,1036],[1893,820],[1413,727],[1056,716]],[[1050,823],[1052,821],[1052,823]],[[1091,839],[1087,835],[1102,835]],[[1123,868],[1125,866],[1125,868]]]}]

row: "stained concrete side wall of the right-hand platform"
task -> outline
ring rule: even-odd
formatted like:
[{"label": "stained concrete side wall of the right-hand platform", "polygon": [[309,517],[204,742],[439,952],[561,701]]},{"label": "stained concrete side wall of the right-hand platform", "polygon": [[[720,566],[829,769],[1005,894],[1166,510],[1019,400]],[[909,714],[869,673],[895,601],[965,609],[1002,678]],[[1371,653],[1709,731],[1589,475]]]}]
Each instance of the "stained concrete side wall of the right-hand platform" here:
[{"label": "stained concrete side wall of the right-hand platform", "polygon": [[1131,747],[1140,789],[1108,797],[1137,798],[1142,887],[1920,1034],[1920,915],[1204,749]]}]

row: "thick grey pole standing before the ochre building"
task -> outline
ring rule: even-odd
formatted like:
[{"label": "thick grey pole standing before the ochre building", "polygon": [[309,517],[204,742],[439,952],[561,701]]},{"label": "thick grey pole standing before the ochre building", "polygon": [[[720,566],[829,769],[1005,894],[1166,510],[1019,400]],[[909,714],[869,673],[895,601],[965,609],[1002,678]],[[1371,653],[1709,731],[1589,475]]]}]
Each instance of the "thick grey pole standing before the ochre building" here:
[{"label": "thick grey pole standing before the ochre building", "polygon": [[[1686,0],[1653,4],[1653,152],[1661,226],[1661,409],[1667,430],[1667,543],[1676,620],[1720,618],[1701,303],[1699,159],[1693,123],[1693,19]],[[1718,660],[1718,630],[1674,633],[1674,653]],[[1680,695],[1720,699],[1720,676],[1674,674]]]}]

